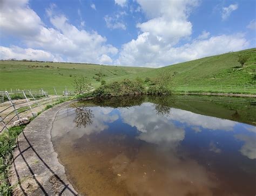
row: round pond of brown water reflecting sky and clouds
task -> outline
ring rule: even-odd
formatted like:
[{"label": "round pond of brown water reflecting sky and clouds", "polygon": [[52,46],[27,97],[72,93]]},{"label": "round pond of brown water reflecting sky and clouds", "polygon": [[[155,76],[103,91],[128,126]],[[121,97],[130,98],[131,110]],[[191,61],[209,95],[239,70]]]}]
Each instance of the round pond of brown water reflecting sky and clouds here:
[{"label": "round pond of brown water reflecting sky and clouds", "polygon": [[80,194],[255,195],[255,100],[125,97],[57,113],[52,142]]}]

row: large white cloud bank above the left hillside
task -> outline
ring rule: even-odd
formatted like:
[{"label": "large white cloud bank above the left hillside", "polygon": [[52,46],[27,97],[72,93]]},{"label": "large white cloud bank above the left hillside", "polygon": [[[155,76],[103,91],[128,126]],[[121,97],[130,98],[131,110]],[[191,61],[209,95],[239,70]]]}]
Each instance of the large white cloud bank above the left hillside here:
[{"label": "large white cloud bank above the left hillside", "polygon": [[[108,57],[107,62],[111,62],[110,56],[118,52],[117,48],[106,44],[106,38],[96,31],[79,30],[69,23],[65,15],[56,15],[54,4],[46,11],[52,28],[43,24],[37,13],[29,8],[28,1],[11,0],[2,4],[1,36],[16,35],[29,48],[54,54],[52,60],[58,56],[68,62],[102,63]],[[27,51],[30,50],[24,50]],[[32,59],[37,59],[37,56]]]}]

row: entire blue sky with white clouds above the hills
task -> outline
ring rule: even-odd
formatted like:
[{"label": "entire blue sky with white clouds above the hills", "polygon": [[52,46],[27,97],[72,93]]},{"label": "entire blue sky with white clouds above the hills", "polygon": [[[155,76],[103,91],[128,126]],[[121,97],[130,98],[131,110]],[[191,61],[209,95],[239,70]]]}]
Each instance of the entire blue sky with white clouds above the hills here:
[{"label": "entire blue sky with white clouds above the hills", "polygon": [[0,58],[160,67],[254,48],[253,0],[2,0]]}]

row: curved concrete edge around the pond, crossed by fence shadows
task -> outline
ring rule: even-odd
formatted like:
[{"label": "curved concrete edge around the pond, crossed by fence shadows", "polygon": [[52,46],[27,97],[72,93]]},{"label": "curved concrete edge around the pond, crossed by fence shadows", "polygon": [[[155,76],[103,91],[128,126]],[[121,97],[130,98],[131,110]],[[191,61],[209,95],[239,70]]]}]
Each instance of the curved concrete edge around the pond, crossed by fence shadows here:
[{"label": "curved concrete edge around the pond, crossed by fence shadows", "polygon": [[57,159],[51,142],[56,113],[65,102],[40,114],[18,137],[11,167],[10,183],[14,195],[76,195]]}]

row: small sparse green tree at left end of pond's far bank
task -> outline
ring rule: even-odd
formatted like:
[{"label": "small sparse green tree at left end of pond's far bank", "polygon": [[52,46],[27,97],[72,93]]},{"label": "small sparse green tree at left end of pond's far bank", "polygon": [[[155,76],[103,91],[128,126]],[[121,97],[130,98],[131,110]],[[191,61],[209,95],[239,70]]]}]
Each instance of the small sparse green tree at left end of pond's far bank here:
[{"label": "small sparse green tree at left end of pond's far bank", "polygon": [[73,86],[75,92],[79,94],[89,92],[92,89],[91,83],[89,83],[83,75],[73,80]]}]

